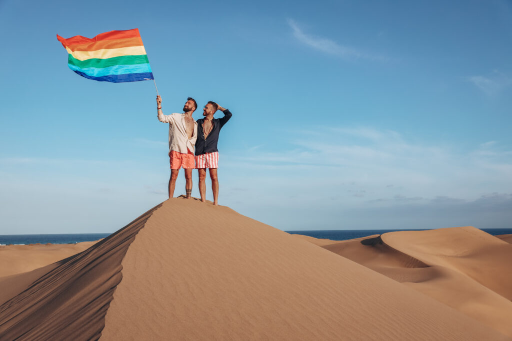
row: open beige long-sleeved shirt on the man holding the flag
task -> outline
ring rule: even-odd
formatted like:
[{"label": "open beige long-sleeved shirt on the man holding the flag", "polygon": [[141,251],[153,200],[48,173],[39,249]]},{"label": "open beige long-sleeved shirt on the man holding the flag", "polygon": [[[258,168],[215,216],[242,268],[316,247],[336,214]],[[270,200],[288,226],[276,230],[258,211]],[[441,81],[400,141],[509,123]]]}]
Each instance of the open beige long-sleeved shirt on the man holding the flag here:
[{"label": "open beige long-sleeved shirt on the man holding the flag", "polygon": [[178,153],[187,154],[187,148],[194,154],[197,140],[197,122],[194,121],[194,133],[188,139],[185,129],[185,113],[172,113],[163,115],[158,111],[158,121],[169,124],[169,153],[171,150]]}]

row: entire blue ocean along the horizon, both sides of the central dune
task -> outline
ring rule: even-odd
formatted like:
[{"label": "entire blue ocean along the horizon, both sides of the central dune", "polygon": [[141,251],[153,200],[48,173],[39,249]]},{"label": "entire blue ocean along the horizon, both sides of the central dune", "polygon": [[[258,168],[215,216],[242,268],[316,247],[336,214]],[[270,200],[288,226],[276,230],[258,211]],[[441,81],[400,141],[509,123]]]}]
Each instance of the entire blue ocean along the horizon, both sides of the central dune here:
[{"label": "entire blue ocean along the horizon, both sides of the central dune", "polygon": [[[512,234],[512,229],[482,229],[496,235]],[[317,231],[286,231],[291,234],[306,235],[314,238],[347,240],[371,235],[380,235],[393,231],[411,230],[317,230]],[[0,235],[0,245],[8,244],[74,244],[82,241],[94,241],[109,236],[110,233],[80,233],[80,234],[51,234],[51,235]]]}]

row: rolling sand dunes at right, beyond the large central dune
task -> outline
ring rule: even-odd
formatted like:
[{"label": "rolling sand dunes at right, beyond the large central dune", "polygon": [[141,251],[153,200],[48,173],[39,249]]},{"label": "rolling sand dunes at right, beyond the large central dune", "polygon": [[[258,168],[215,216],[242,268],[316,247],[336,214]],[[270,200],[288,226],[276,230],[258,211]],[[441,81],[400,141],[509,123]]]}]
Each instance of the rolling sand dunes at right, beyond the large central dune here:
[{"label": "rolling sand dunes at right, beyond the large central dune", "polygon": [[465,227],[322,244],[512,336],[512,245],[499,238]]}]

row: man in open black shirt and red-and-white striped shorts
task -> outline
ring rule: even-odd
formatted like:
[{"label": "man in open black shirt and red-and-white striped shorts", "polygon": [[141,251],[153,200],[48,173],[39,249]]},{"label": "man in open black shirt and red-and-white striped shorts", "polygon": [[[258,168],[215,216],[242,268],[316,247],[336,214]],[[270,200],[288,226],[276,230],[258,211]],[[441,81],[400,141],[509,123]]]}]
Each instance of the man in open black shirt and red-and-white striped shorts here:
[{"label": "man in open black shirt and red-and-white striped shorts", "polygon": [[[224,112],[224,117],[214,119],[217,110]],[[231,112],[215,102],[208,102],[203,108],[204,119],[197,120],[198,134],[196,140],[196,168],[199,171],[199,193],[201,201],[206,202],[206,168],[209,169],[211,179],[211,190],[214,192],[214,205],[218,205],[219,180],[217,179],[217,168],[219,167],[219,132],[231,118]]]}]

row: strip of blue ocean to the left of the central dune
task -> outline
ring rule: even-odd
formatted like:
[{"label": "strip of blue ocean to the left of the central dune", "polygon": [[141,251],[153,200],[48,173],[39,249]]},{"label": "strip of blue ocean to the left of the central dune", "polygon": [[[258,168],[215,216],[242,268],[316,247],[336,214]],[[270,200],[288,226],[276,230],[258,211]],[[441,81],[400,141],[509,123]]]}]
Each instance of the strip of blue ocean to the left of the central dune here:
[{"label": "strip of blue ocean to the left of the central dune", "polygon": [[0,245],[8,244],[75,244],[110,236],[110,233],[78,233],[53,235],[0,235]]}]

